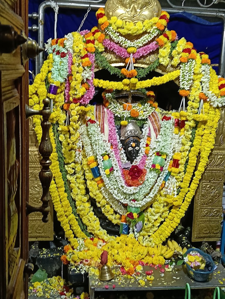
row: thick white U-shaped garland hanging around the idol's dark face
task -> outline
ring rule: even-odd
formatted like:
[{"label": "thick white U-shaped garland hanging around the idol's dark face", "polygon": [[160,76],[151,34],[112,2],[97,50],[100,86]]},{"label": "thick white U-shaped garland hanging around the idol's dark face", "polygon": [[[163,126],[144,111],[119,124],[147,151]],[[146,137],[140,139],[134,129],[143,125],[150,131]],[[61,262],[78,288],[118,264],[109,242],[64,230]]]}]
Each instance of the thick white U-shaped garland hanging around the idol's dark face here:
[{"label": "thick white U-shaped garland hanging around the idol's dark face", "polygon": [[[173,148],[172,141],[171,141],[172,136],[174,135],[173,129],[174,129],[173,120],[163,121],[162,129],[160,130],[160,133],[162,135],[164,134],[165,138],[159,135],[156,140],[157,142],[155,146],[153,146],[153,144],[152,146],[150,145],[151,149],[154,149],[154,151],[168,152],[168,157],[167,157],[168,160],[166,160],[164,171],[162,171],[160,175],[158,175],[155,171],[152,170],[148,171],[146,167],[147,174],[143,185],[139,187],[128,187],[125,185],[123,181],[116,158],[110,148],[110,144],[108,143],[108,141],[104,140],[104,135],[101,134],[98,124],[97,123],[88,124],[88,137],[90,138],[90,143],[92,144],[93,153],[94,155],[97,155],[97,161],[99,163],[99,169],[100,169],[102,179],[104,180],[105,187],[112,194],[115,200],[123,204],[129,204],[131,206],[136,206],[136,207],[142,207],[143,205],[146,205],[147,202],[152,200],[152,198],[157,193],[157,190],[160,188],[164,177],[166,176],[167,167],[169,166],[169,161],[172,158],[172,150],[167,149],[166,144],[168,145],[168,147]],[[168,139],[170,140],[169,142],[167,141]],[[165,144],[161,144],[161,143],[165,143]],[[156,148],[157,146],[159,149]],[[105,175],[105,171],[102,168],[102,153],[104,152],[109,153],[110,159],[114,167],[113,173],[111,173],[111,175],[108,177]],[[151,158],[150,160],[151,163],[149,163],[149,168],[151,167],[154,156],[152,155],[150,158]],[[157,179],[158,176],[159,178]],[[152,188],[153,185],[154,187]],[[149,190],[151,190],[149,195],[144,197],[146,193],[149,192]],[[131,201],[134,198],[137,200],[136,202]]]}]

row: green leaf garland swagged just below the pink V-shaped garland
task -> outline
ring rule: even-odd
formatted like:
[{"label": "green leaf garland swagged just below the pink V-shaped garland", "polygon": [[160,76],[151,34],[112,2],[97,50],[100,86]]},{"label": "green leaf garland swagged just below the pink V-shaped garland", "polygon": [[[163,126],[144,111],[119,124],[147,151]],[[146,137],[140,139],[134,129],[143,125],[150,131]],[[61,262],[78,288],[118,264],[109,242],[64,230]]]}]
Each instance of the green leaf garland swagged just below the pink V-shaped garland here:
[{"label": "green leaf garland swagged just below the pink V-shaped garland", "polygon": [[[120,78],[126,78],[125,75],[121,74],[121,69],[110,65],[107,59],[97,49],[95,51],[95,62],[99,68],[108,70],[111,75],[116,75]],[[136,68],[137,71],[136,77],[138,79],[146,77],[147,74],[155,70],[158,65],[159,65],[159,59],[155,60],[147,68]]]}]

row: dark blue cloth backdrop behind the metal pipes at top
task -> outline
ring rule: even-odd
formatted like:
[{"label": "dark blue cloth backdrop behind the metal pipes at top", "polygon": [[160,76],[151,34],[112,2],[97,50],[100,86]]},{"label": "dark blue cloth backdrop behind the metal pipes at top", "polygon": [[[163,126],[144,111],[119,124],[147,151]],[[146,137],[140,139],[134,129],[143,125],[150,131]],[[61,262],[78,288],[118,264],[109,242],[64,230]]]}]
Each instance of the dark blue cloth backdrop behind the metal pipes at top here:
[{"label": "dark blue cloth backdrop behind the metal pipes at top", "polygon": [[[37,12],[41,0],[29,0],[29,13]],[[76,31],[86,13],[86,10],[69,10],[59,8],[57,22],[57,37],[62,38],[69,32]],[[45,41],[54,37],[54,11],[49,8],[45,13],[44,38]],[[37,24],[37,20],[29,19],[29,26]],[[85,20],[84,29],[91,29],[97,25],[95,12],[90,11]],[[212,63],[220,63],[223,23],[211,23],[190,13],[175,13],[170,16],[169,30],[175,30],[179,37],[185,37],[194,44],[198,52],[206,52]],[[29,36],[37,40],[37,32],[29,31]],[[29,69],[34,70],[34,61],[30,60]],[[215,67],[218,71],[218,68]],[[31,77],[30,77],[31,79]]]}]

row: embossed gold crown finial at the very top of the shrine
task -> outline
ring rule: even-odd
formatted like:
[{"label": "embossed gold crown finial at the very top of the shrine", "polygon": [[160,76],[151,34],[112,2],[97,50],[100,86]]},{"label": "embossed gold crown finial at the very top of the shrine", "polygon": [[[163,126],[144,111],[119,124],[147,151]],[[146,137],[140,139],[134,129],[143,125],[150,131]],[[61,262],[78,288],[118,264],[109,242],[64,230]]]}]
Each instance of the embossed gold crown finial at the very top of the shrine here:
[{"label": "embossed gold crown finial at the very top of the shrine", "polygon": [[158,0],[107,0],[105,4],[105,16],[108,19],[116,16],[119,20],[134,24],[159,17],[161,10]]}]

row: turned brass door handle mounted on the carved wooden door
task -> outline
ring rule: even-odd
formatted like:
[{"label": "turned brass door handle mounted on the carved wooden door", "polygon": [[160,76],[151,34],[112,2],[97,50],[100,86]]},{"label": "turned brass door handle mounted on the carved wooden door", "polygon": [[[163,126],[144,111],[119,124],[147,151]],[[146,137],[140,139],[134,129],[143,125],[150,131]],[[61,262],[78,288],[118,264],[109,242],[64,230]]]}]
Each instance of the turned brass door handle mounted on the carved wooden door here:
[{"label": "turned brass door handle mounted on the carved wooden door", "polygon": [[41,212],[43,217],[43,222],[48,222],[48,213],[50,212],[50,192],[49,187],[52,180],[52,172],[50,170],[50,165],[52,164],[50,160],[50,155],[52,153],[52,144],[49,136],[50,122],[49,117],[51,115],[50,110],[50,100],[48,98],[43,100],[44,107],[42,110],[33,110],[28,106],[26,107],[26,116],[29,117],[31,115],[42,115],[43,120],[41,122],[42,126],[42,138],[39,145],[39,152],[42,155],[42,159],[40,161],[40,165],[42,166],[41,171],[39,172],[39,179],[42,184],[42,206],[41,207],[33,207],[27,203],[27,215],[33,212]]}]

